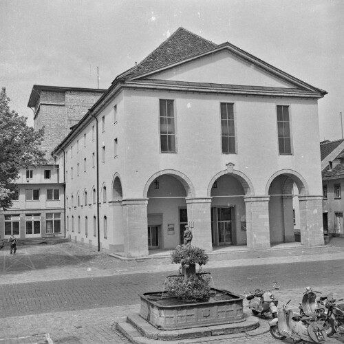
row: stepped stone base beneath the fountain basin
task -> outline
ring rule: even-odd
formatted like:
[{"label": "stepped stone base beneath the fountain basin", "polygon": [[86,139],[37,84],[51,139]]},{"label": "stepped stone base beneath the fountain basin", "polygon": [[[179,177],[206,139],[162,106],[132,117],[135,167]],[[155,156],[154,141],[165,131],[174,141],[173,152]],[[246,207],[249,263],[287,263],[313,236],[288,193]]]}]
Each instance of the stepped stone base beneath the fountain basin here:
[{"label": "stepped stone base beneath the fountain basin", "polygon": [[188,328],[184,330],[159,330],[142,319],[139,314],[127,316],[127,322],[117,323],[116,329],[124,334],[132,343],[164,343],[175,344],[182,340],[183,343],[199,343],[200,341],[217,341],[226,338],[250,336],[269,331],[268,325],[259,326],[259,319],[246,314],[246,320],[241,323],[231,323],[215,326]]}]

